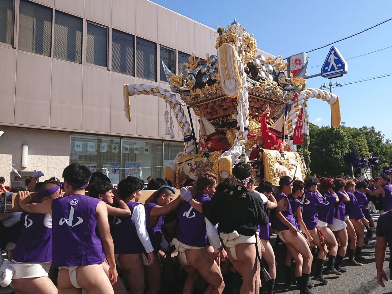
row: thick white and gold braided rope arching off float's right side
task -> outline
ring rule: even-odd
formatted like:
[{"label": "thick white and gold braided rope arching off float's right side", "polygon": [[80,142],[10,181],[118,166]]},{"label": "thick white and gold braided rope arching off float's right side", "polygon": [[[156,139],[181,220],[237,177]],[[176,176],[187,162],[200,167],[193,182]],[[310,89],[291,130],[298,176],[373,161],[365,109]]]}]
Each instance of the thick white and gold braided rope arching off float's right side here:
[{"label": "thick white and gold braided rope arching off float's right side", "polygon": [[[295,124],[298,121],[299,110],[305,106],[305,102],[308,98],[317,98],[323,101],[327,101],[329,105],[334,105],[338,100],[338,95],[329,93],[321,89],[307,89],[301,91],[296,100],[293,102],[293,106],[290,110],[289,116],[287,117],[287,123],[289,124],[289,133],[294,134]],[[306,115],[306,114],[305,114]]]}]

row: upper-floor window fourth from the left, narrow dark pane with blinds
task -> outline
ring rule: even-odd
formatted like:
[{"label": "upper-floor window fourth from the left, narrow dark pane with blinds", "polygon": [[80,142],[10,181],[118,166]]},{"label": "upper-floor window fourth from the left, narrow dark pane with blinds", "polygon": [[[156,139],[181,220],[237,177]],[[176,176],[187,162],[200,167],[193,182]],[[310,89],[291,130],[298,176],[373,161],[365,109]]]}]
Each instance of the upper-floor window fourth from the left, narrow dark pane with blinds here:
[{"label": "upper-floor window fourth from the left, narrow dark pane with blinds", "polygon": [[107,28],[87,23],[86,62],[107,67]]}]

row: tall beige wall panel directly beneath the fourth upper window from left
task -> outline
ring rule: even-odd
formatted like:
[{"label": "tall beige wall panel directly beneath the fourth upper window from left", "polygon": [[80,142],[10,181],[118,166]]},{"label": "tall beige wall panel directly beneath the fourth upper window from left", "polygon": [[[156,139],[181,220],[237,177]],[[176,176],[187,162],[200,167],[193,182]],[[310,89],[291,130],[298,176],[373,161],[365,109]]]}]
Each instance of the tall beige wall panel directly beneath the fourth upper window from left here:
[{"label": "tall beige wall panel directly beneath the fourth upper window from left", "polygon": [[110,72],[83,67],[82,130],[110,132]]}]

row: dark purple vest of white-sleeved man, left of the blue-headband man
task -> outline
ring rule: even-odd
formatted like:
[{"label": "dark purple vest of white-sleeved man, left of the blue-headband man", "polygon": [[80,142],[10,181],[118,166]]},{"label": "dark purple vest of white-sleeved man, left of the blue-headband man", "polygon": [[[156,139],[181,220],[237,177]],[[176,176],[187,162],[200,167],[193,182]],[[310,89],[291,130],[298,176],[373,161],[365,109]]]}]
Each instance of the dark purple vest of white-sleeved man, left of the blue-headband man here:
[{"label": "dark purple vest of white-sleeved man, left of the blue-headband man", "polygon": [[[129,201],[126,203],[133,214],[137,205],[143,205]],[[132,214],[127,217],[116,216],[112,230],[114,253],[115,254],[134,254],[145,252],[142,242],[136,232],[136,225],[132,220]]]}]

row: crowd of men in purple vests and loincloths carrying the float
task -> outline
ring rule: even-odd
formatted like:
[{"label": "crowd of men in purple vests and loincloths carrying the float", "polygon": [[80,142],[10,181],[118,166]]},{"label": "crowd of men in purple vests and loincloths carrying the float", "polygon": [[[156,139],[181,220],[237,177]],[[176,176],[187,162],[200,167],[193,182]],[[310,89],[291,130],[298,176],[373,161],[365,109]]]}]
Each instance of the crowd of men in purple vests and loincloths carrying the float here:
[{"label": "crowd of men in purple vests and loincloths carrying the float", "polygon": [[[239,163],[218,185],[206,172],[180,193],[162,178],[145,184],[127,177],[113,187],[104,174],[79,163],[64,169],[61,182],[40,182],[44,175],[34,172],[27,191],[5,186],[0,177],[0,192],[17,192],[24,211],[0,214],[6,252],[0,285],[16,294],[220,294],[240,276],[240,293],[259,293],[265,283],[272,294],[270,238],[276,234],[288,289],[311,294],[314,283],[328,287],[324,275],[361,266],[363,246],[376,231],[377,279],[385,286],[383,262],[392,241],[389,175],[370,181],[282,176],[277,187],[262,181],[255,188],[251,174]],[[143,190],[152,191],[145,201]],[[371,212],[381,214],[377,229]]]}]

